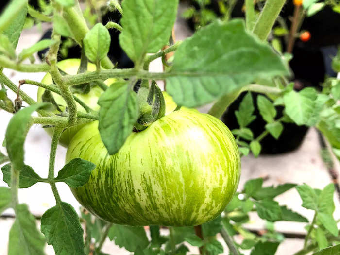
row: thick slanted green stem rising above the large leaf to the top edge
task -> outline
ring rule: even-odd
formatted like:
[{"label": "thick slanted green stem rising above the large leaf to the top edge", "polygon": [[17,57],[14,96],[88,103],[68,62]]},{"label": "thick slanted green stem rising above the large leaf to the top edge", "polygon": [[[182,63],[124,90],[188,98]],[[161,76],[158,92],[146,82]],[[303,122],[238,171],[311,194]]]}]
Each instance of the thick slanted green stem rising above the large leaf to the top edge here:
[{"label": "thick slanted green stem rising above the large leaf to the top edge", "polygon": [[258,17],[253,34],[257,35],[260,40],[265,41],[272,30],[276,18],[285,4],[286,0],[267,0],[266,4]]}]

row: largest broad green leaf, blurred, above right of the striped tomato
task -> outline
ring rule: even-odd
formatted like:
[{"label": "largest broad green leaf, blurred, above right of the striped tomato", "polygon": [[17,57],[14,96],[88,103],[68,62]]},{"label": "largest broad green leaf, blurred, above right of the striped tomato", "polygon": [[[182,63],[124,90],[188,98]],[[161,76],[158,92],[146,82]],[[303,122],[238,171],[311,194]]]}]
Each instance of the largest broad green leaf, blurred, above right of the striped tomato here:
[{"label": "largest broad green leaf, blurred, above right of the striped tomato", "polygon": [[176,76],[166,78],[167,92],[177,104],[196,107],[260,76],[287,75],[289,71],[267,43],[247,33],[242,20],[234,19],[217,20],[187,38],[175,53],[170,73]]}]

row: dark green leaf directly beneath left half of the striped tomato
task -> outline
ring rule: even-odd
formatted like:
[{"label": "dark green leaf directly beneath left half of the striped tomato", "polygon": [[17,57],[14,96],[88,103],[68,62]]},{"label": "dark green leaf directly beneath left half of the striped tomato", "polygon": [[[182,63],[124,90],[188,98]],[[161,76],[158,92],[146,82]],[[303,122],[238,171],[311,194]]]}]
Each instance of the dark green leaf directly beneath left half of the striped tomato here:
[{"label": "dark green leaf directly beneath left half of the striped tomato", "polygon": [[143,227],[114,224],[109,230],[108,237],[111,241],[114,240],[116,245],[130,252],[134,252],[137,247],[144,249],[149,244]]}]

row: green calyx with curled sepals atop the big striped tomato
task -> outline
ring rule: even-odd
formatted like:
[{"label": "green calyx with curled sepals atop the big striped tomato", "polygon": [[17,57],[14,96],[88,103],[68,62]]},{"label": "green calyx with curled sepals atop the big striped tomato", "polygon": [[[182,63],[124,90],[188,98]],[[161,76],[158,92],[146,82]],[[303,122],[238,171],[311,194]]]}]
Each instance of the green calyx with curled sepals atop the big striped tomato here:
[{"label": "green calyx with curled sepals atop the big striped tomato", "polygon": [[137,98],[140,114],[135,128],[137,131],[142,131],[165,115],[165,100],[156,82],[152,81],[149,88],[147,80],[142,81]]}]

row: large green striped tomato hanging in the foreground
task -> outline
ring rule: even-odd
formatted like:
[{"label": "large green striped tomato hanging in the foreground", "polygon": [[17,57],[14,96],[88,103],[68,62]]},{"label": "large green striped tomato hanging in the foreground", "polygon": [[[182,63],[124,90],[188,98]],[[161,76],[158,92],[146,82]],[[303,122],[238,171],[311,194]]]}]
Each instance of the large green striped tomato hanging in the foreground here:
[{"label": "large green striped tomato hanging in the foreground", "polygon": [[73,158],[97,165],[89,181],[72,189],[103,220],[124,225],[193,226],[217,217],[234,195],[240,159],[234,136],[215,117],[172,112],[132,133],[109,156],[98,122],[71,140]]}]

